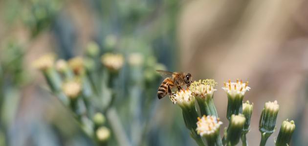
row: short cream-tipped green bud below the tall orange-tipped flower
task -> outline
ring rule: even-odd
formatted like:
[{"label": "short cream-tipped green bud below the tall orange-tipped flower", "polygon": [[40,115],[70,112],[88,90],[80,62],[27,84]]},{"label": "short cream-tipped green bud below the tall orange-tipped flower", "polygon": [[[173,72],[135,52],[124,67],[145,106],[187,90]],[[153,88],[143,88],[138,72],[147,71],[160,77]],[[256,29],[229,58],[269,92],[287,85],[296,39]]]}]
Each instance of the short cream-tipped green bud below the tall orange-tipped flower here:
[{"label": "short cream-tipped green bud below the tall orange-tipped flower", "polygon": [[231,115],[230,123],[225,135],[225,143],[227,146],[235,146],[239,143],[245,121],[245,117],[242,114]]}]

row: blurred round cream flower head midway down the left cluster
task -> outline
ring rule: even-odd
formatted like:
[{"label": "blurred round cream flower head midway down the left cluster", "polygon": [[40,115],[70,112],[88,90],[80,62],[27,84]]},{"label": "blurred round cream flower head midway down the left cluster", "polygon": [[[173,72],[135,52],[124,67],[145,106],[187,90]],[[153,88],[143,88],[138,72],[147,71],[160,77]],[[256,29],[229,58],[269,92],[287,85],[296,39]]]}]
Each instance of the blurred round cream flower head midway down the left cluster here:
[{"label": "blurred round cream flower head midway down the left cluster", "polygon": [[78,81],[67,81],[63,84],[63,92],[70,98],[76,98],[81,92],[81,83]]}]

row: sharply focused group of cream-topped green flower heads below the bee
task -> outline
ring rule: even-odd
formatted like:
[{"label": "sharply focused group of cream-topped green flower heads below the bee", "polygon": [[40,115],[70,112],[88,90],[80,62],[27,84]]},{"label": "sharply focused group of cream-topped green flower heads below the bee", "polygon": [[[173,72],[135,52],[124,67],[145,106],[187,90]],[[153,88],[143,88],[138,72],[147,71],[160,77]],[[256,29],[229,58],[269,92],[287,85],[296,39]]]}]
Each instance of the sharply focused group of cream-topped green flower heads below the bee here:
[{"label": "sharply focused group of cream-topped green flower heads below the bee", "polygon": [[[246,134],[250,131],[253,110],[253,104],[249,101],[243,103],[243,96],[250,89],[247,86],[248,82],[242,83],[242,80],[239,82],[237,79],[236,82],[229,80],[228,83],[224,83],[222,89],[226,91],[228,97],[226,117],[229,120],[229,126],[224,129],[222,139],[219,134],[222,123],[219,121],[213,102],[216,84],[212,79],[194,81],[188,89],[173,92],[170,100],[182,109],[186,128],[190,130],[192,138],[199,146],[236,146],[240,138],[242,145],[247,146]],[[265,103],[259,124],[259,130],[262,133],[260,146],[264,146],[268,137],[274,132],[278,110],[277,101]],[[293,121],[284,121],[276,145],[288,145],[294,128]]]}]

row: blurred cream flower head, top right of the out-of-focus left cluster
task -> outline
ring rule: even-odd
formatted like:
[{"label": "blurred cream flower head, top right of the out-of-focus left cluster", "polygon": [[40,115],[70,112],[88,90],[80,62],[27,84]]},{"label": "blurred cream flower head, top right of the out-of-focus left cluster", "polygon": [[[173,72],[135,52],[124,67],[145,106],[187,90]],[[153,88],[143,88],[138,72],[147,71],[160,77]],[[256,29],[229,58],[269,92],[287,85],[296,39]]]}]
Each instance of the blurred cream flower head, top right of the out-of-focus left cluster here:
[{"label": "blurred cream flower head, top right of the out-of-focus left cluster", "polygon": [[124,57],[120,54],[106,53],[102,55],[102,63],[110,71],[118,71],[122,68],[124,64]]}]

